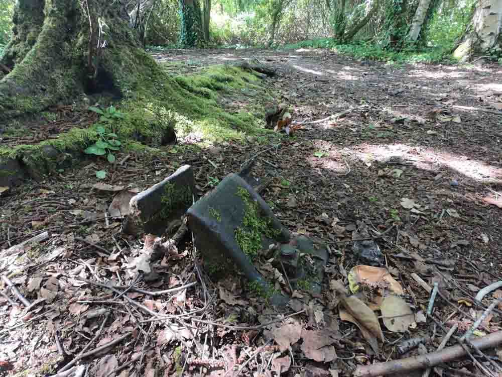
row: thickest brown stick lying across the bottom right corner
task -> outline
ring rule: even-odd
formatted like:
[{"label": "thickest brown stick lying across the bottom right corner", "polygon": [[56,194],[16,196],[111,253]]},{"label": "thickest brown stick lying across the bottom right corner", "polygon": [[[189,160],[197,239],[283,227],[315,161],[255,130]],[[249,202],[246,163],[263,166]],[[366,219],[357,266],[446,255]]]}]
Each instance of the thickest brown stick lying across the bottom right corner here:
[{"label": "thickest brown stick lying across the bottom right corner", "polygon": [[[472,340],[472,343],[479,349],[492,348],[502,343],[502,331],[497,331],[480,338]],[[444,348],[425,355],[408,357],[401,360],[381,362],[371,365],[359,365],[355,370],[354,377],[376,377],[378,375],[404,373],[410,370],[422,369],[436,366],[443,362],[455,360],[465,356],[466,351],[460,345]]]}]

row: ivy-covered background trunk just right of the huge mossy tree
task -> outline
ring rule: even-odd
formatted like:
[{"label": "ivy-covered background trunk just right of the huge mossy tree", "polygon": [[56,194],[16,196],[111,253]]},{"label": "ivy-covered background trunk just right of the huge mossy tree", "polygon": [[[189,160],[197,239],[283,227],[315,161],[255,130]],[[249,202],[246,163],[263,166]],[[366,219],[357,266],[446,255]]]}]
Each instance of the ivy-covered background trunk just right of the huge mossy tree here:
[{"label": "ivy-covered background trunk just right of the huge mossy tree", "polygon": [[199,0],[180,0],[180,43],[195,47],[202,41],[202,16]]}]

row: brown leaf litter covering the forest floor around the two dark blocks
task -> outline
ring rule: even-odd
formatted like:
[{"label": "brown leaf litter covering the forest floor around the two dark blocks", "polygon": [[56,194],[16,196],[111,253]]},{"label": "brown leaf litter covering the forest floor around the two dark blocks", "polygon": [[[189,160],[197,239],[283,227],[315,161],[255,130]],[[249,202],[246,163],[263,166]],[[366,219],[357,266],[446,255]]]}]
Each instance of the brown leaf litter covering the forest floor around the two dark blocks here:
[{"label": "brown leaf litter covering the forest floor around the two dark blocks", "polygon": [[[95,375],[372,375],[364,365],[433,352],[451,328],[445,349],[458,345],[476,319],[472,343],[497,334],[500,291],[475,297],[502,276],[502,116],[483,111],[501,101],[499,68],[393,67],[322,51],[157,57],[190,61],[180,68],[188,71],[240,57],[277,67],[269,90],[294,132],[273,148],[248,138],[201,150],[181,143],[149,161],[132,153],[109,186],[96,181],[96,162],[2,197],[10,224],[2,370],[53,375],[70,363]],[[203,194],[253,157],[253,174],[267,182],[260,194],[281,222],[329,245],[322,294],[297,290],[277,314],[239,278],[211,281],[189,238],[134,280],[128,258],[144,240],[121,235],[107,214],[117,192],[190,164]],[[380,269],[354,253],[361,228],[379,245]],[[163,290],[172,291],[152,295]],[[465,344],[472,357],[443,358],[428,373],[500,372],[498,347]]]}]

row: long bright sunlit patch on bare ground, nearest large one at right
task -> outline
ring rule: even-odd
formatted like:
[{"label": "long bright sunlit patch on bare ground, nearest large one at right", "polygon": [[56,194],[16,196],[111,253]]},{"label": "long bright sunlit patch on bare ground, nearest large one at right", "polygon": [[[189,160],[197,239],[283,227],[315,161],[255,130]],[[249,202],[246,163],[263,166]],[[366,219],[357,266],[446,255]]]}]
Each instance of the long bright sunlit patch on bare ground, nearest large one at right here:
[{"label": "long bright sunlit patch on bare ground, nearest large one at right", "polygon": [[502,169],[474,160],[461,154],[438,151],[432,148],[409,146],[406,144],[367,145],[353,148],[359,159],[379,162],[391,157],[401,158],[420,169],[439,170],[441,167],[452,169],[466,177],[485,182],[502,182]]}]

